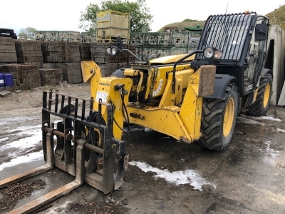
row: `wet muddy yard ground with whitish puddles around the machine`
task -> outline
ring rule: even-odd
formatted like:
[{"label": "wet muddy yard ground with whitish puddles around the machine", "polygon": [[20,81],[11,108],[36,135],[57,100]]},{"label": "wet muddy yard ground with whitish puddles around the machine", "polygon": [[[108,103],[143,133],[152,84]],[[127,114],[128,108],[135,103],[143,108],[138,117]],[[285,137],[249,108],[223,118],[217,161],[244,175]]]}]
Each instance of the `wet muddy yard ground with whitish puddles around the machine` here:
[{"label": "wet muddy yard ground with whitish puddles around the machine", "polygon": [[[41,153],[42,91],[48,89],[33,88],[0,98],[0,180],[44,164],[37,156],[29,162],[24,157]],[[85,83],[56,89],[90,96]],[[284,121],[285,108],[276,106],[261,118],[239,116],[234,138],[223,152],[134,126],[123,136],[130,170],[120,190],[104,195],[83,184],[35,213],[285,213]],[[22,145],[13,146],[16,142]],[[20,162],[10,164],[16,158]],[[73,179],[54,168],[2,188],[0,213]],[[4,203],[7,200],[9,206]]]}]

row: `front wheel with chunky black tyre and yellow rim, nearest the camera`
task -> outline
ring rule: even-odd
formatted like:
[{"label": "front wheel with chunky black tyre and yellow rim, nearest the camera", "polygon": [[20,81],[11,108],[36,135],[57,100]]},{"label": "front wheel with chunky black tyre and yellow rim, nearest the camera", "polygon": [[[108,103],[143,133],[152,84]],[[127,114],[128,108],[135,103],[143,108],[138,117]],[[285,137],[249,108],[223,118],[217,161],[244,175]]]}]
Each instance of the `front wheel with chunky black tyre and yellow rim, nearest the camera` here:
[{"label": "front wheel with chunky black tyre and yellow rim, nearest the camera", "polygon": [[234,134],[237,120],[239,93],[232,83],[224,91],[223,98],[203,99],[201,133],[199,143],[214,151],[226,150]]}]

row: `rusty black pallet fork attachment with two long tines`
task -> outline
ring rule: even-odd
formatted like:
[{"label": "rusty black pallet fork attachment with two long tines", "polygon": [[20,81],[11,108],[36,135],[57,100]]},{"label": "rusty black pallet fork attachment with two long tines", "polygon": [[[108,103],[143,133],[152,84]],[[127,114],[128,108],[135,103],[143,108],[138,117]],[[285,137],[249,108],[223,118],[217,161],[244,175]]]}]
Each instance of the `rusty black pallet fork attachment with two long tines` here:
[{"label": "rusty black pallet fork attachment with two long tines", "polygon": [[[86,103],[90,104],[89,109],[86,108]],[[58,108],[59,104],[61,108]],[[102,106],[107,108],[107,121],[101,116]],[[112,106],[99,102],[98,107],[98,112],[93,111],[93,98],[88,101],[56,91],[53,99],[52,90],[43,91],[42,143],[46,165],[0,180],[0,188],[51,170],[55,166],[75,176],[75,180],[10,213],[31,213],[83,183],[88,183],[105,194],[123,185],[124,170],[128,168],[125,142],[113,138]],[[87,118],[86,111],[89,111]],[[57,128],[54,128],[51,118],[61,118]],[[54,137],[57,138],[56,148],[53,144]],[[102,146],[98,145],[99,141]]]}]

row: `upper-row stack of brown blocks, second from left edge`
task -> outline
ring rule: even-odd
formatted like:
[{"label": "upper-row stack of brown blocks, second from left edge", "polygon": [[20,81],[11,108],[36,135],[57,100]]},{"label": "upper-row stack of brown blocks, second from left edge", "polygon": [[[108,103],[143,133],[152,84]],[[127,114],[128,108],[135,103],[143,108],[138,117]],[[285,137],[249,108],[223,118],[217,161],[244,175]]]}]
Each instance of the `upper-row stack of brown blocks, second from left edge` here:
[{"label": "upper-row stack of brown blocks, second from left edge", "polygon": [[41,41],[16,40],[15,47],[18,63],[41,63],[43,61]]}]

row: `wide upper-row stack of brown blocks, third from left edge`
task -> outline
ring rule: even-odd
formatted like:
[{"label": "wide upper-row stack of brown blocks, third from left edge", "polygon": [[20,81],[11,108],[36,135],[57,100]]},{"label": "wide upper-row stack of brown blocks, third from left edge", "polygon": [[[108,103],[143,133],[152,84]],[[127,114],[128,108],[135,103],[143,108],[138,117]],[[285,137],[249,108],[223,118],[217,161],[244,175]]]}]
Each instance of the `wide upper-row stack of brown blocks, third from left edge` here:
[{"label": "wide upper-row stack of brown blocks, third from left edge", "polygon": [[79,42],[42,41],[43,61],[46,63],[73,63],[81,61]]}]

